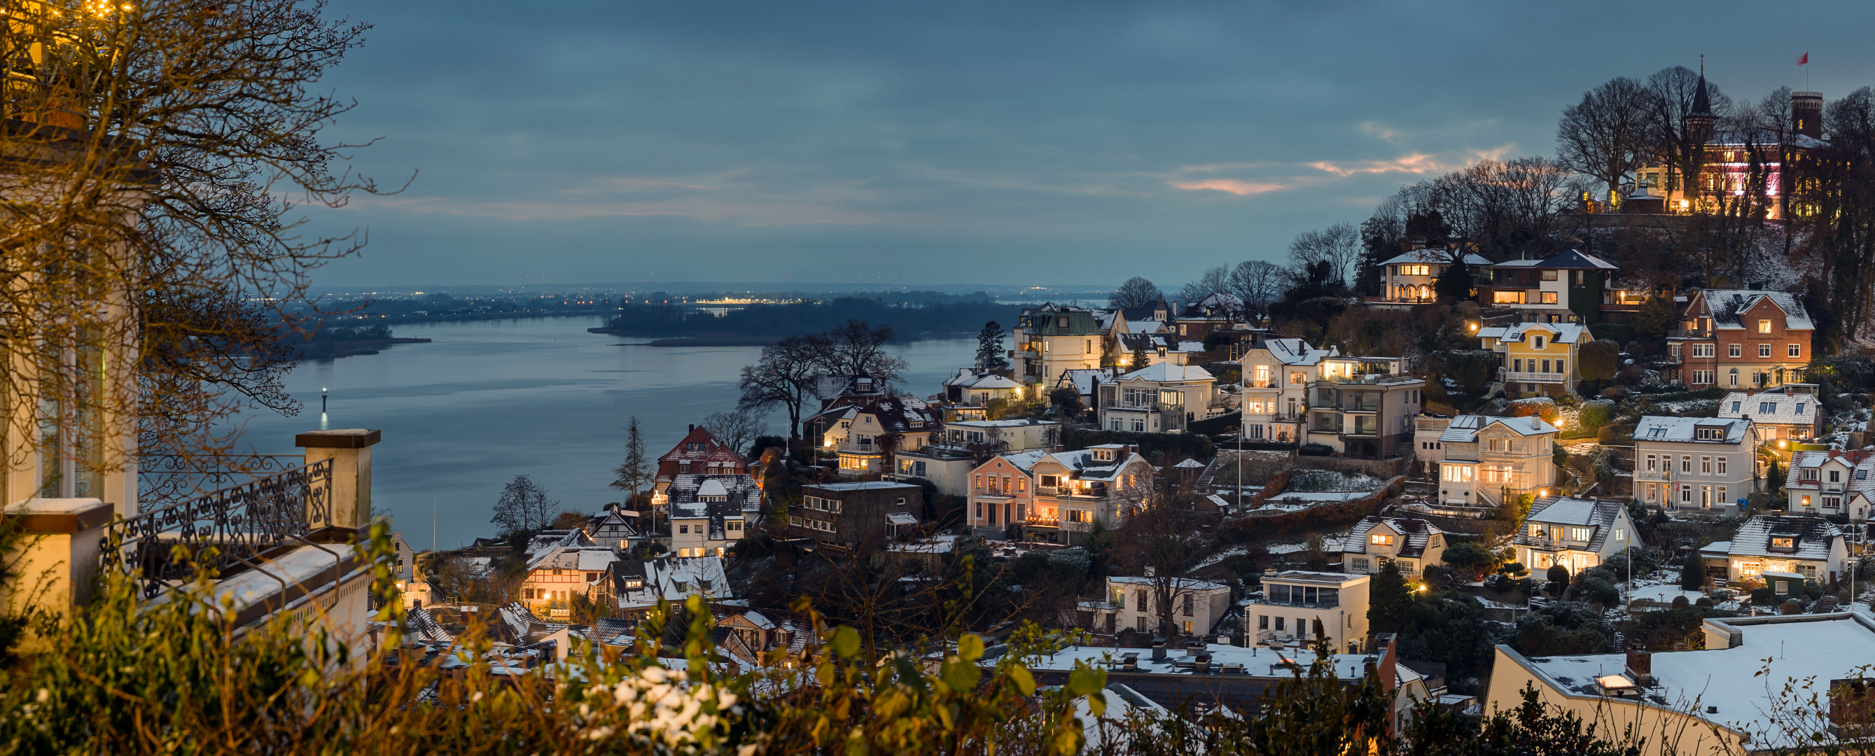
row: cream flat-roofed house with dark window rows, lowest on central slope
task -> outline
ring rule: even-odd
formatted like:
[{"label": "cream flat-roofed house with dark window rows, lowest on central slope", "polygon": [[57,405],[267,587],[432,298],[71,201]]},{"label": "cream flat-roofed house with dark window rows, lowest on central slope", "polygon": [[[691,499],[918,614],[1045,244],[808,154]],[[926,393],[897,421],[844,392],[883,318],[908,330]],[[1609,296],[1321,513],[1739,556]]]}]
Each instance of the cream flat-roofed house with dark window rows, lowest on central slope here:
[{"label": "cream flat-roofed house with dark window rows, lowest on central slope", "polygon": [[1258,642],[1282,640],[1314,643],[1314,625],[1322,623],[1328,647],[1359,653],[1367,643],[1365,574],[1266,570],[1264,593],[1243,604],[1245,632]]}]

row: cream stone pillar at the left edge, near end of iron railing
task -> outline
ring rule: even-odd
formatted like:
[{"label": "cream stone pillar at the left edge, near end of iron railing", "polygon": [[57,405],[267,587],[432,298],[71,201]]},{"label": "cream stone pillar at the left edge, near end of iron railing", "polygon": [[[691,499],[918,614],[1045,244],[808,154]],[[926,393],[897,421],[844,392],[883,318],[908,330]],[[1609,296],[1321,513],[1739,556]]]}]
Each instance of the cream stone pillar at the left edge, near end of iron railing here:
[{"label": "cream stone pillar at the left edge, near end of iron railing", "polygon": [[105,525],[116,516],[116,507],[98,499],[26,499],[6,507],[6,516],[17,518],[24,538],[19,553],[0,555],[17,559],[9,565],[15,576],[11,585],[0,583],[0,606],[24,598],[69,615],[75,606],[90,604]]}]

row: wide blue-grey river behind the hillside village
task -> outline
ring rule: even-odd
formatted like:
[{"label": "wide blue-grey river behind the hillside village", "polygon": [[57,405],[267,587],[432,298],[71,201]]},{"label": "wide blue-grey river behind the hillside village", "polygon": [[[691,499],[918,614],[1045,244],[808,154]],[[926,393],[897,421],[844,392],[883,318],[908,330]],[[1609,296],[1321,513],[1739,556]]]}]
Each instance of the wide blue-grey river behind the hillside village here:
[{"label": "wide blue-grey river behind the hillside village", "polygon": [[[442,548],[493,535],[489,514],[501,486],[529,475],[562,508],[592,512],[619,491],[608,488],[624,456],[624,424],[638,416],[651,456],[668,452],[709,413],[735,407],[744,364],[761,347],[621,345],[589,334],[600,317],[542,317],[482,323],[399,325],[398,336],[429,338],[379,355],[304,362],[287,390],[306,403],[298,416],[248,413],[244,446],[296,454],[292,433],[319,430],[319,390],[328,388],[324,428],[377,428],[371,497],[388,508],[416,548]],[[952,368],[969,366],[977,341],[924,340],[900,345],[911,364],[908,392],[928,396]],[[769,431],[786,433],[772,413]]]}]

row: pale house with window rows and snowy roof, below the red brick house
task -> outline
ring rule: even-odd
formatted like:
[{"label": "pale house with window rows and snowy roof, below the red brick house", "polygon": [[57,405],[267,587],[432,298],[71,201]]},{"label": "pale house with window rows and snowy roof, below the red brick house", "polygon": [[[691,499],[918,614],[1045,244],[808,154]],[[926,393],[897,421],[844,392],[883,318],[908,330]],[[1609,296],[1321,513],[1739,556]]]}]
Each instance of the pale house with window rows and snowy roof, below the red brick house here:
[{"label": "pale house with window rows and snowy roof, below the red brick house", "polygon": [[1749,418],[1648,415],[1635,426],[1635,497],[1686,512],[1736,512],[1759,490]]}]

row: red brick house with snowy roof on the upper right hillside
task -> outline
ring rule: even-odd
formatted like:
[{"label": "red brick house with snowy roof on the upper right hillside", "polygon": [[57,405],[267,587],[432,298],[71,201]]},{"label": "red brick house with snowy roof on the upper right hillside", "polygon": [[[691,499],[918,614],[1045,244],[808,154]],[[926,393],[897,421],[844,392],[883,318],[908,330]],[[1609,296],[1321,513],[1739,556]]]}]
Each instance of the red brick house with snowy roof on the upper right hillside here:
[{"label": "red brick house with snowy roof on the upper right hillside", "polygon": [[1787,291],[1704,289],[1688,296],[1667,353],[1688,388],[1781,386],[1804,381],[1815,330]]}]

